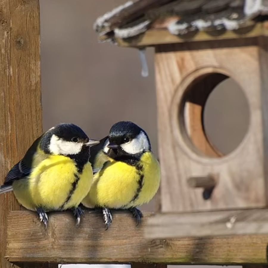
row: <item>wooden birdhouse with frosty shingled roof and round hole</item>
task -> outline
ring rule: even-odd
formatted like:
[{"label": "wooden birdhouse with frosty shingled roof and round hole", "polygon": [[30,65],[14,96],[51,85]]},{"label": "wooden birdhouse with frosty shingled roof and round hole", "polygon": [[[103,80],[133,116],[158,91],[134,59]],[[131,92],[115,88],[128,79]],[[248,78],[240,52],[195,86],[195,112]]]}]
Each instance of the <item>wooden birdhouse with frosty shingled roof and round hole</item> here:
[{"label": "wooden birdhouse with frosty shingled roof and round hole", "polygon": [[[155,47],[162,212],[267,206],[266,15],[261,0],[144,0],[96,20],[101,41]],[[249,119],[224,154],[205,132],[204,109],[228,78],[241,88]]]}]

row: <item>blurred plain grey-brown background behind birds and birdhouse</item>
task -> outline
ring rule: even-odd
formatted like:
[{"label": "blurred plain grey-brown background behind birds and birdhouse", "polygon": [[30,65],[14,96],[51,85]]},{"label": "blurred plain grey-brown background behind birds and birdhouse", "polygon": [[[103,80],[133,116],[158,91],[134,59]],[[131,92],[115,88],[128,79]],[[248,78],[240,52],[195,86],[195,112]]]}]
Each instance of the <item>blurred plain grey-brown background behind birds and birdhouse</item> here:
[{"label": "blurred plain grey-brown background behind birds and birdhouse", "polygon": [[[40,0],[43,129],[73,122],[100,139],[116,121],[130,120],[147,131],[157,154],[154,49],[147,49],[149,77],[143,78],[136,49],[98,43],[93,30],[99,15],[124,2]],[[231,152],[248,122],[243,93],[231,79],[222,82],[204,112],[211,143]],[[154,201],[143,209],[153,210]]]}]

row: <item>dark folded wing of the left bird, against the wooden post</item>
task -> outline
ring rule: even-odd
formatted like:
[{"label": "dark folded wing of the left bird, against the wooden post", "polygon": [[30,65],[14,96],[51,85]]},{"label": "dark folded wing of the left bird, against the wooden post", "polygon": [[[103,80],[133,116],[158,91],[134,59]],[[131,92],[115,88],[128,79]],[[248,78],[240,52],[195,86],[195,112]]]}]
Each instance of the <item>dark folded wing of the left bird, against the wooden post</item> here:
[{"label": "dark folded wing of the left bird, against the wooden post", "polygon": [[[42,136],[41,136],[42,137]],[[12,184],[14,180],[19,180],[21,178],[27,177],[32,170],[32,162],[34,161],[37,147],[40,141],[40,138],[36,139],[32,146],[28,149],[24,158],[19,161],[12,169],[8,172],[4,184]]]}]

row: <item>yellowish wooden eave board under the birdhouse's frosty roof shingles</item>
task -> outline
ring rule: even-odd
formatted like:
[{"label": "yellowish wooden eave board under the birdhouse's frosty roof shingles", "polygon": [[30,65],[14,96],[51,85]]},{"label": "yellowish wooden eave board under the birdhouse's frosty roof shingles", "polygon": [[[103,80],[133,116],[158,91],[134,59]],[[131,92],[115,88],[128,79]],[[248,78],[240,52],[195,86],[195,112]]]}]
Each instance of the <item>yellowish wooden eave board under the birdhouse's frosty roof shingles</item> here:
[{"label": "yellowish wooden eave board under the birdhouse's frosty roof shingles", "polygon": [[[237,38],[252,38],[258,36],[267,36],[267,22],[258,23],[253,29],[248,32],[225,31],[223,34],[214,36],[209,32],[197,32],[193,36],[179,36],[172,35],[167,29],[148,29],[144,34],[128,38],[116,38],[116,43],[121,47],[144,47],[155,46],[159,44],[172,44],[172,43],[185,43],[196,41],[209,41],[209,40],[226,40]],[[105,40],[107,37],[100,36],[99,40]]]}]

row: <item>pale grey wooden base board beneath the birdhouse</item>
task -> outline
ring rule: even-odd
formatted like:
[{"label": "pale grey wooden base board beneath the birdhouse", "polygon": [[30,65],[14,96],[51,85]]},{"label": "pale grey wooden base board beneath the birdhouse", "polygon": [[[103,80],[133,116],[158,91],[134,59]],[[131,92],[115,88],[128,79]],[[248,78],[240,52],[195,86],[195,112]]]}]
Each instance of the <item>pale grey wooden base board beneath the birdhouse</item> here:
[{"label": "pale grey wooden base board beneath the birdhouse", "polygon": [[268,210],[157,214],[144,233],[148,239],[268,234]]}]

